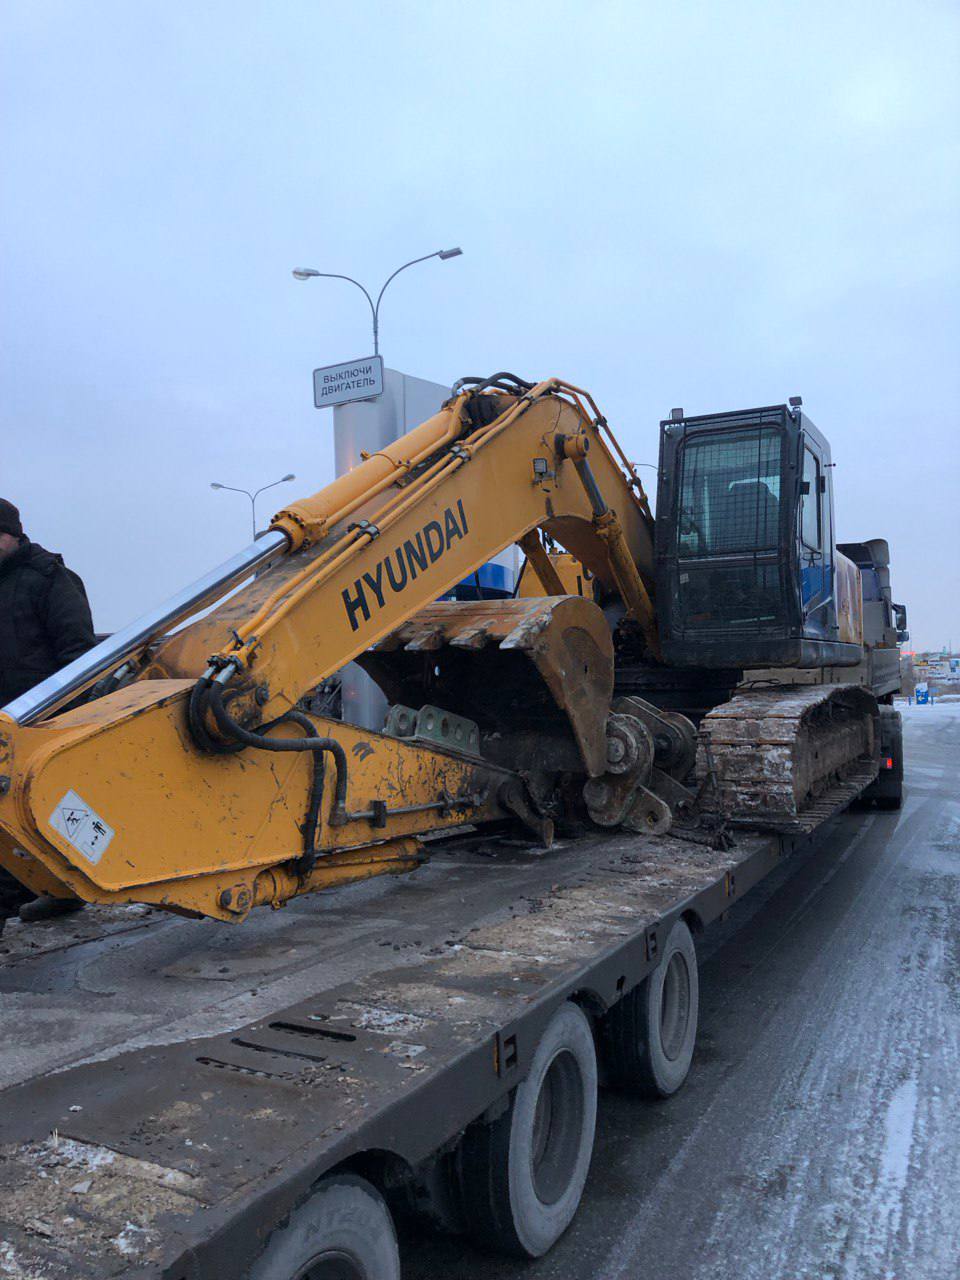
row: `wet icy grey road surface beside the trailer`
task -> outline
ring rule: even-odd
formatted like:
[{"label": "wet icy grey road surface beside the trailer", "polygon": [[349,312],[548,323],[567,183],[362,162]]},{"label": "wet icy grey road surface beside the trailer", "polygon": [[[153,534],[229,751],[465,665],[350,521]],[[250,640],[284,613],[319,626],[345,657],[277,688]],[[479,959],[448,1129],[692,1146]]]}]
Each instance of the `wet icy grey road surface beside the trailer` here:
[{"label": "wet icy grey road surface beside the trailer", "polygon": [[957,1280],[960,703],[904,722],[904,809],[846,814],[703,940],[692,1075],[602,1098],[553,1252],[407,1236],[404,1280]]}]

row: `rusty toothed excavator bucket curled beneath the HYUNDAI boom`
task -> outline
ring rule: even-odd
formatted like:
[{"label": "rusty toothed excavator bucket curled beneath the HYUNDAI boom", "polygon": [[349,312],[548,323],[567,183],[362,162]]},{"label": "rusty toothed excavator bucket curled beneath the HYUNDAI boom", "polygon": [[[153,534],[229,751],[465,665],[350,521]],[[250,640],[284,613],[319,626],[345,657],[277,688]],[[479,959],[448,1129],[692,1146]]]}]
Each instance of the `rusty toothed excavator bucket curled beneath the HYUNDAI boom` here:
[{"label": "rusty toothed excavator bucket curled beneath the HYUNDAI boom", "polygon": [[392,703],[475,721],[500,764],[605,768],[613,644],[591,600],[440,600],[357,662]]}]

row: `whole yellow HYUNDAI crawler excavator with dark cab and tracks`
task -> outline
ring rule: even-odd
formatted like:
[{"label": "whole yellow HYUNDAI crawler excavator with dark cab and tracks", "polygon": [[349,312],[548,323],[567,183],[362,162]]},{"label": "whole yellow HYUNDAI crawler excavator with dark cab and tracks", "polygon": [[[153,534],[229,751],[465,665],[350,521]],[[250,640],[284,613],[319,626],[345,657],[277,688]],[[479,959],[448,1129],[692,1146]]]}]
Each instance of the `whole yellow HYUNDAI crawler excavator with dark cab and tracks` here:
[{"label": "whole yellow HYUNDAI crawler excavator with dark cab and tracks", "polygon": [[[837,547],[826,439],[799,401],[660,430],[654,518],[588,392],[461,379],[0,712],[0,867],[239,922],[465,827],[717,841],[869,795],[896,772],[900,632],[865,639],[874,544]],[[513,598],[456,598],[515,543]],[[381,732],[305,709],[351,660]]]}]

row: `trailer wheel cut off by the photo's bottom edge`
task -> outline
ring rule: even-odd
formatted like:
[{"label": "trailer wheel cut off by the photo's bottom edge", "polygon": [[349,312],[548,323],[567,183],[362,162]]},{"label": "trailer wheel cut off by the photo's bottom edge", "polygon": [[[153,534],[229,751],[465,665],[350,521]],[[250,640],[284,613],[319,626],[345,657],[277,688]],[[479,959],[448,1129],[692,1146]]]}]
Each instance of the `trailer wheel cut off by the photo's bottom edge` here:
[{"label": "trailer wheel cut off by the photo's bottom edge", "polygon": [[362,1178],[323,1181],[270,1236],[250,1280],[399,1280],[397,1233]]}]

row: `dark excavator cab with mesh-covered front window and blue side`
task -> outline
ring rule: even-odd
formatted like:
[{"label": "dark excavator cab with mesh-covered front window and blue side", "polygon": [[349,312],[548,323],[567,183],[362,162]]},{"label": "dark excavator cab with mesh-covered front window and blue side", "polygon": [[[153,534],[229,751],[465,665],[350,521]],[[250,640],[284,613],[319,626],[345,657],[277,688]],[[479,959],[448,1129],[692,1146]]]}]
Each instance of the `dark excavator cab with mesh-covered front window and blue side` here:
[{"label": "dark excavator cab with mesh-covered front window and blue side", "polygon": [[660,424],[657,598],[664,659],[861,660],[860,581],[837,552],[827,439],[788,404]]}]

